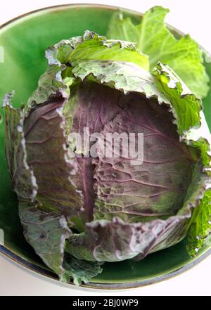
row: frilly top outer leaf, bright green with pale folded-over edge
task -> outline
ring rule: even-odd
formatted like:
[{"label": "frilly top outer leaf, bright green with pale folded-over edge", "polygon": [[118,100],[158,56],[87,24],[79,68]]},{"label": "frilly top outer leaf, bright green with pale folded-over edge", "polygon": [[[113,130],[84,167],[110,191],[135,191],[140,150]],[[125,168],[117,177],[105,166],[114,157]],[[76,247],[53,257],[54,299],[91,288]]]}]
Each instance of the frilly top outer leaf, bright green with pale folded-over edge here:
[{"label": "frilly top outer leaf, bright green with pale folded-over edge", "polygon": [[[127,91],[146,93],[165,101],[162,93],[153,84],[148,70],[148,57],[136,50],[131,42],[107,40],[94,32],[86,31],[82,37],[60,41],[46,50],[48,67],[39,79],[37,90],[29,99],[25,114],[36,105],[70,98],[70,89],[79,81],[92,74],[99,82]],[[73,68],[72,68],[73,67]],[[85,71],[83,72],[83,67]],[[104,68],[105,70],[101,70]],[[74,72],[72,72],[74,70]],[[98,76],[101,72],[102,78]],[[107,77],[107,78],[106,78]]]}]

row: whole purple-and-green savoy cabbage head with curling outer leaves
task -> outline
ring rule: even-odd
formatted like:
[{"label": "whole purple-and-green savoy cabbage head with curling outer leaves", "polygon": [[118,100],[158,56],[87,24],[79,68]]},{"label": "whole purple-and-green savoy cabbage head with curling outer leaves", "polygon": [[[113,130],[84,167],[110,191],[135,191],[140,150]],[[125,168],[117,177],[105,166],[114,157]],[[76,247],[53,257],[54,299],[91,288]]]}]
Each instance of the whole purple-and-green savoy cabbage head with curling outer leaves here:
[{"label": "whole purple-and-green savoy cabbage head with curling outer leaves", "polygon": [[[28,243],[76,285],[104,261],[139,260],[178,243],[190,227],[193,252],[210,223],[210,131],[200,98],[169,66],[150,73],[134,44],[94,32],[61,41],[46,58],[25,108],[4,98],[6,157]],[[101,133],[95,158],[70,139],[85,127]],[[143,133],[143,162],[101,155],[106,132],[131,131]]]}]

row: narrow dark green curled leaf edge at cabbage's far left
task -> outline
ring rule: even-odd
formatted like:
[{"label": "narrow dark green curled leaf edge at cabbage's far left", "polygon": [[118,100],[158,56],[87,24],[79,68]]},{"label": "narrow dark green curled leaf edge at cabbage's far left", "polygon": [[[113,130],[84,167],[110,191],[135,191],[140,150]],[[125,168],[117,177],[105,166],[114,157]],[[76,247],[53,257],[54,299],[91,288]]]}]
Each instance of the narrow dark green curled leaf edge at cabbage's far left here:
[{"label": "narrow dark green curled leaf edge at cabbage's far left", "polygon": [[23,112],[12,107],[12,97],[13,93],[8,93],[4,97],[6,159],[12,186],[18,198],[34,200],[37,195],[37,181],[34,172],[27,164]]}]

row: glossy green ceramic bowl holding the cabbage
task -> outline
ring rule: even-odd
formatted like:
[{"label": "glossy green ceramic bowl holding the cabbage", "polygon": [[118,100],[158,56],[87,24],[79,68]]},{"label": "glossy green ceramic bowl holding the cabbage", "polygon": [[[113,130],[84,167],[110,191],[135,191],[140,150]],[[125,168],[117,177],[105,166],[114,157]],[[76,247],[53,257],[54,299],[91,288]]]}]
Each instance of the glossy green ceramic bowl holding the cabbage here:
[{"label": "glossy green ceramic bowl holding the cabbage", "polygon": [[[4,63],[0,63],[0,101],[4,93],[15,90],[15,105],[27,101],[46,68],[44,51],[61,39],[68,39],[94,30],[105,34],[111,15],[117,8],[98,5],[68,5],[44,8],[11,20],[0,28],[0,47],[4,50]],[[140,13],[124,10],[138,22]],[[179,32],[171,27],[175,35]],[[205,56],[208,54],[205,52]],[[208,57],[207,57],[208,58]],[[2,57],[1,57],[1,60]],[[211,78],[211,65],[205,63]],[[205,116],[211,128],[210,93],[203,101]],[[2,110],[0,110],[2,113]],[[0,124],[0,228],[4,230],[4,246],[0,252],[18,264],[58,279],[44,266],[34,250],[23,238],[18,218],[18,202],[11,190],[11,180],[4,156],[4,121]],[[148,255],[142,261],[132,260],[106,264],[103,273],[91,280],[91,288],[134,288],[175,276],[191,268],[211,252],[211,240],[198,252],[188,257],[186,240],[160,252]]]}]

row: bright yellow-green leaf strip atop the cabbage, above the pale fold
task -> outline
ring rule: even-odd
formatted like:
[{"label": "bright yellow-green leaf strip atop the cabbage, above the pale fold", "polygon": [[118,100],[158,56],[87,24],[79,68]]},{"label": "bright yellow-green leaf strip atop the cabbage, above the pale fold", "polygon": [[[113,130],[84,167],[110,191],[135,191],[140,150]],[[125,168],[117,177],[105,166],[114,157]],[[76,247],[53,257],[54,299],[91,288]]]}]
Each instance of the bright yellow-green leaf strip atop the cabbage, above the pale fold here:
[{"label": "bright yellow-green leaf strip atop the cabbage, above the pale fold", "polygon": [[135,49],[132,42],[107,40],[87,30],[82,37],[63,40],[46,51],[49,64],[68,63],[77,60],[115,60],[135,63],[148,70],[148,57]]}]

